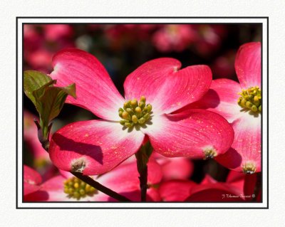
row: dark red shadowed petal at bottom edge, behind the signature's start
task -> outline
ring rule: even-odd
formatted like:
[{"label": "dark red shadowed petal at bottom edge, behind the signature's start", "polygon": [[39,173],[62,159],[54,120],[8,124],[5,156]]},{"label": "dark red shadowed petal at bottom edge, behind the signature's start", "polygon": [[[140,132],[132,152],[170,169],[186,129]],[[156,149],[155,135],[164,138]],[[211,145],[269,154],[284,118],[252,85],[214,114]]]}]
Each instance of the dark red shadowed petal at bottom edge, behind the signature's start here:
[{"label": "dark red shadowed petal at bottom edge, behind the signature's start", "polygon": [[244,201],[244,197],[241,196],[242,191],[225,183],[197,185],[192,188],[190,193],[191,195],[186,199],[186,201]]}]

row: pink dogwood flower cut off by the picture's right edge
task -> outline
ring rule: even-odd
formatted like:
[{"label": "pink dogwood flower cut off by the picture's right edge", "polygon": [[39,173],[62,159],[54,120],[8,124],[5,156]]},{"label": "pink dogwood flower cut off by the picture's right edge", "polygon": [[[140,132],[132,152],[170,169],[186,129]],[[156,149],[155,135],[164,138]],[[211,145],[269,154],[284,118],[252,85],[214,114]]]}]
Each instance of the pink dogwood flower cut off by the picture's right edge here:
[{"label": "pink dogwood flower cut off by the picture's right edge", "polygon": [[235,60],[239,83],[213,80],[209,92],[193,106],[217,112],[231,123],[234,142],[217,162],[252,174],[261,171],[261,43],[246,43]]}]

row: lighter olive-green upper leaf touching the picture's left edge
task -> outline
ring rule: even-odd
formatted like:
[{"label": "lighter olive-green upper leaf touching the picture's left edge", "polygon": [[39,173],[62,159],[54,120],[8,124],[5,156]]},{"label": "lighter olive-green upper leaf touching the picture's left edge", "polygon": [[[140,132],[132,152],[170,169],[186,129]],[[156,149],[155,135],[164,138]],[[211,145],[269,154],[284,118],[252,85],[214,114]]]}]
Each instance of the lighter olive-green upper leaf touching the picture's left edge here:
[{"label": "lighter olive-green upper leaf touching the picture's left edge", "polygon": [[56,80],[52,80],[48,75],[35,71],[24,71],[24,93],[36,105],[36,97],[33,95],[33,91],[39,88],[47,87],[56,83]]}]

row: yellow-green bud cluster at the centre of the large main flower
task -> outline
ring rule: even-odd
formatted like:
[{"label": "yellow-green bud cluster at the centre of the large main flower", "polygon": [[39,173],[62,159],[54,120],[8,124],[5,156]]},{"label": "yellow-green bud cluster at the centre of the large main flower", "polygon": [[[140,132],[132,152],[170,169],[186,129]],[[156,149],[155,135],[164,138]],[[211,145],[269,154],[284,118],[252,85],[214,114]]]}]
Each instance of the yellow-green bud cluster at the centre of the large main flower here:
[{"label": "yellow-green bud cluster at the centre of the large main flower", "polygon": [[124,103],[124,107],[119,109],[120,125],[131,128],[134,125],[143,125],[150,119],[152,105],[145,104],[145,96],[140,97],[140,101],[133,99]]}]

